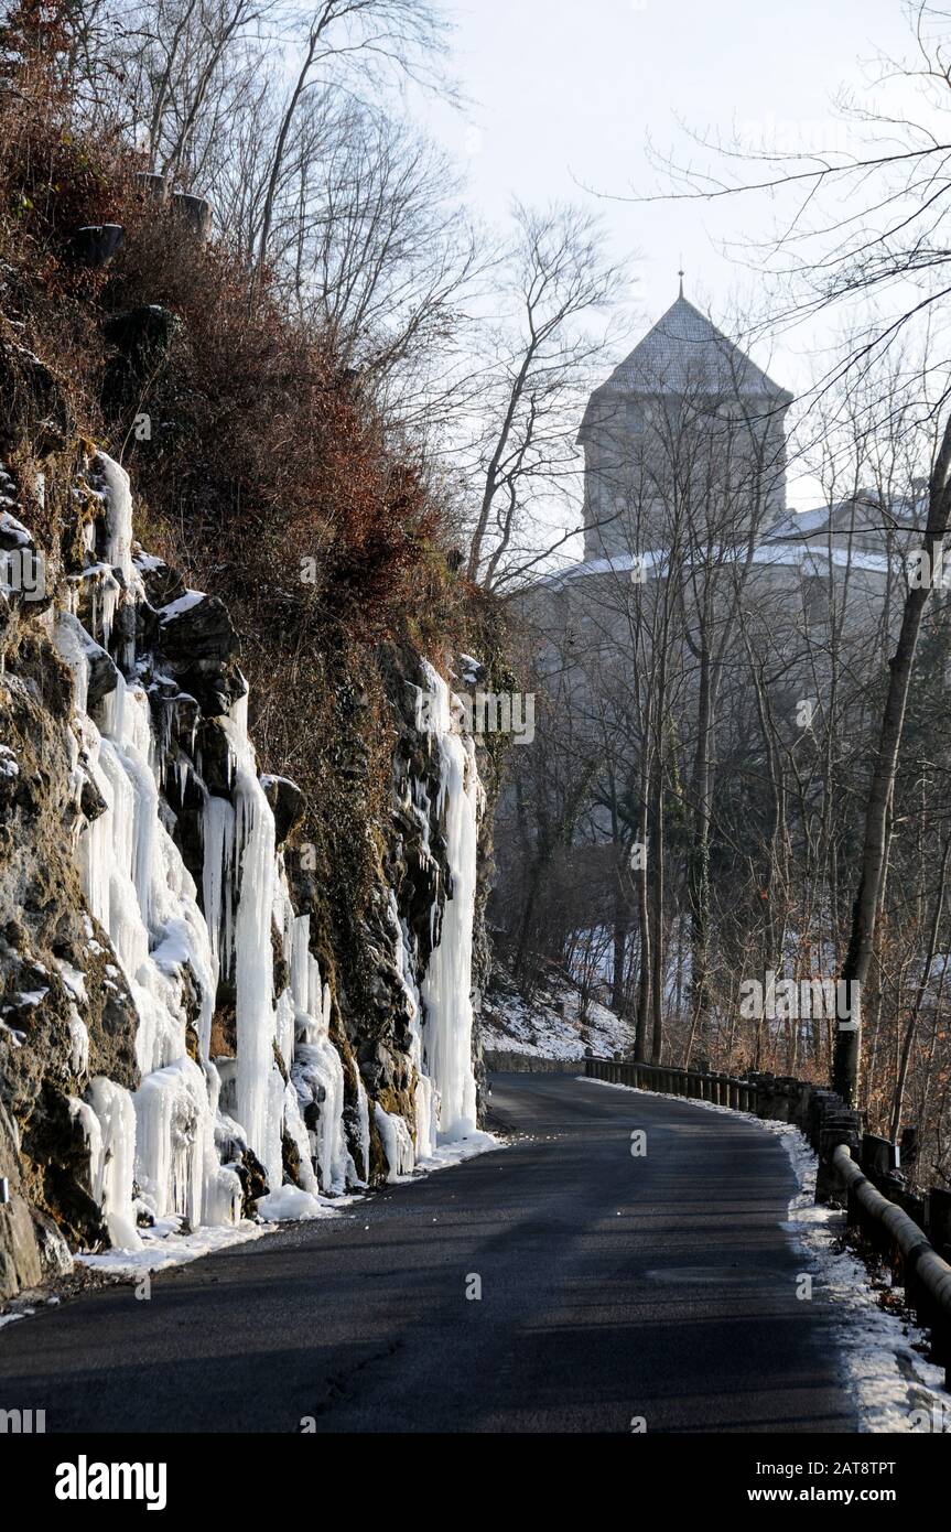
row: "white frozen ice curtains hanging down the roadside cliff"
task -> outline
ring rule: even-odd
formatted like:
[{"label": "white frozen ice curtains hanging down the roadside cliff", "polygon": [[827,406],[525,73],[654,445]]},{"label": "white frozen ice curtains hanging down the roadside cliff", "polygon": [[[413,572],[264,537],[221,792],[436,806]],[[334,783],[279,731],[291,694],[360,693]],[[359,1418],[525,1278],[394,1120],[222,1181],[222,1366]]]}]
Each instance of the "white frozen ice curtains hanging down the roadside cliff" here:
[{"label": "white frozen ice curtains hanging down the roadside cliff", "polygon": [[[129,476],[104,453],[98,467],[104,545],[100,561],[74,579],[55,642],[74,674],[75,792],[92,783],[101,806],[75,847],[98,922],[86,922],[87,947],[101,954],[96,936],[109,941],[107,971],[132,994],[139,1085],[127,1089],[89,1077],[86,996],[77,974],[75,1074],[83,1083],[69,1106],[113,1246],[83,1259],[110,1270],[156,1270],[257,1238],[274,1223],[337,1216],[352,1201],[346,1193],[369,1180],[371,1114],[389,1181],[496,1147],[492,1135],[476,1131],[472,1060],[481,784],[458,699],[426,668],[429,706],[420,708],[418,726],[438,761],[438,800],[430,806],[424,784],[413,784],[413,801],[424,817],[432,807],[446,827],[452,893],[430,912],[433,945],[424,971],[391,901],[394,961],[410,1013],[415,1109],[406,1118],[384,1111],[368,1098],[357,1072],[348,1131],[331,991],[311,951],[311,918],[297,915],[291,901],[248,737],[247,692],[211,717],[227,757],[227,787],[211,787],[194,726],[188,738],[178,719],[194,708],[194,697],[176,691],[161,648],[136,647],[135,614],[147,607],[142,581],[158,561],[133,552]],[[93,541],[90,527],[90,558]],[[159,634],[208,599],[187,591],[159,607]],[[113,669],[115,679],[92,705],[95,665]],[[176,840],[170,783],[179,789],[175,801],[187,784],[201,803],[201,899]],[[277,994],[276,947],[286,976]],[[213,1048],[222,980],[234,996],[236,1040],[227,1057]],[[263,1224],[242,1218],[240,1172],[248,1164],[266,1180],[256,1207]]]}]

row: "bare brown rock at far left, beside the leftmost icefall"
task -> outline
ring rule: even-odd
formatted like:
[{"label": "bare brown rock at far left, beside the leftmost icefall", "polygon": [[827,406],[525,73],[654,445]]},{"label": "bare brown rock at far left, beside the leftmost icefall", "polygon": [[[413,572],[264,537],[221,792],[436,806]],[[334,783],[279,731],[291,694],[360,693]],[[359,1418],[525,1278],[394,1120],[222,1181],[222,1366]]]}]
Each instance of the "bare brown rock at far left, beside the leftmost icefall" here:
[{"label": "bare brown rock at far left, beside the leftmost icefall", "polygon": [[49,637],[52,611],[38,605],[8,591],[2,636],[0,1098],[17,1124],[25,1196],[70,1238],[95,1241],[101,1212],[69,1100],[90,1072],[138,1083],[136,1013],[72,853],[101,797],[72,731],[72,676]]}]

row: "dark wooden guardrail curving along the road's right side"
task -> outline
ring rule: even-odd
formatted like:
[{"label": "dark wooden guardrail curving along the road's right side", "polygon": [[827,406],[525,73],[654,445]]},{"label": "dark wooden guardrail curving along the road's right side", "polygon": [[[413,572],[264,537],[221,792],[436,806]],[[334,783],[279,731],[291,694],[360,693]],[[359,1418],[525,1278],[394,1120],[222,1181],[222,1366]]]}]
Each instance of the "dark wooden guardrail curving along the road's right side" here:
[{"label": "dark wooden guardrail curving along the road's right side", "polygon": [[835,1091],[792,1075],[740,1077],[591,1057],[585,1074],[799,1128],[818,1157],[816,1203],[844,1206],[847,1226],[888,1262],[893,1282],[905,1288],[908,1307],[930,1331],[933,1360],[951,1388],[951,1192],[913,1192],[900,1175],[899,1146],[864,1132],[861,1112]]}]

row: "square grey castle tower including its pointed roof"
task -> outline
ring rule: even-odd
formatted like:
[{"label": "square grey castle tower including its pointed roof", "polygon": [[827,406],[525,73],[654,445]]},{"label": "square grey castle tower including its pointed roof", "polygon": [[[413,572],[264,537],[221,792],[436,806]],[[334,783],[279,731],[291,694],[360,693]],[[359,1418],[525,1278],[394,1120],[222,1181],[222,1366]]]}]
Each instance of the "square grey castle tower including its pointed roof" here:
[{"label": "square grey castle tower including its pointed roof", "polygon": [[585,559],[743,544],[786,509],[792,403],[683,296],[588,400]]}]

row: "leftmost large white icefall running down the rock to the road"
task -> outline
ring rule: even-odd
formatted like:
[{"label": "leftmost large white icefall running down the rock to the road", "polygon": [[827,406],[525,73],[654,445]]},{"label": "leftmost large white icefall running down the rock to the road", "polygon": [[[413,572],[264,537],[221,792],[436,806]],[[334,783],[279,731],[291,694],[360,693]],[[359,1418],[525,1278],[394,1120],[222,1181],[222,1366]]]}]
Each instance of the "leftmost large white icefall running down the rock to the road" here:
[{"label": "leftmost large white icefall running down the rock to the road", "polygon": [[[124,512],[110,525],[110,556],[124,567],[129,536]],[[61,653],[77,677],[77,705],[86,700],[87,651],[75,619],[61,620]],[[77,633],[78,628],[78,633]],[[75,640],[75,642],[74,642]],[[194,884],[159,815],[152,763],[155,740],[149,702],[121,677],[103,708],[103,732],[78,717],[89,775],[106,810],[78,838],[77,859],[86,898],[126,974],[138,1013],[136,1060],[142,1083],[135,1100],[110,1080],[90,1086],[90,1103],[78,1111],[90,1144],[90,1172],[113,1242],[138,1247],[132,1223],[133,1167],[156,1218],[178,1212],[234,1216],[239,1184],[214,1154],[217,1075],[187,1057],[187,1023],[196,1017],[207,1056],[216,990],[216,961],[194,901]],[[188,980],[185,980],[185,970]],[[87,1034],[70,1023],[74,1069],[87,1066]],[[100,1123],[100,1138],[89,1111]],[[136,1126],[138,1120],[138,1126]]]}]

